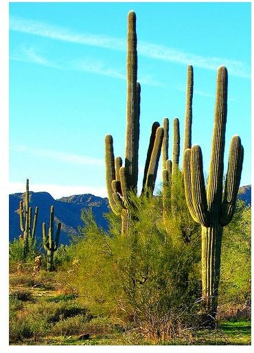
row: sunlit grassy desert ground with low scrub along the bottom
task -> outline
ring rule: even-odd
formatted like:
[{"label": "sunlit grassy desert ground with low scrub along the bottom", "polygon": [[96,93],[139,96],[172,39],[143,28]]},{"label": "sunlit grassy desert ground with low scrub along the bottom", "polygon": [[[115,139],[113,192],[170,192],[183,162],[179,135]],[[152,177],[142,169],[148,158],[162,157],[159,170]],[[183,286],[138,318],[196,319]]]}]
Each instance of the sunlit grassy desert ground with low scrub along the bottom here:
[{"label": "sunlit grassy desert ground with low scrub along the bottom", "polygon": [[[10,276],[10,345],[251,345],[250,321],[220,321],[215,330],[174,341],[146,340],[132,326],[91,315],[82,297],[49,286],[54,275],[33,280],[35,286],[29,275]],[[84,333],[89,339],[79,339]]]}]

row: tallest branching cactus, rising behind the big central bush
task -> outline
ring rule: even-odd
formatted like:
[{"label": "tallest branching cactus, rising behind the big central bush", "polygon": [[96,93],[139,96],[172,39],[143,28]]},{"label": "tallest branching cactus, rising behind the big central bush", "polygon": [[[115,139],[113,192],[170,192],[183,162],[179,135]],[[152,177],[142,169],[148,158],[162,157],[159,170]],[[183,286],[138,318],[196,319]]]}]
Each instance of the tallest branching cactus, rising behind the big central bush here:
[{"label": "tallest branching cactus, rising behind the big central bush", "polygon": [[[127,40],[127,102],[126,102],[126,151],[124,166],[122,158],[114,156],[113,137],[105,137],[106,187],[108,201],[115,214],[122,218],[122,234],[130,236],[132,224],[130,194],[137,195],[140,84],[137,82],[137,34],[136,14],[128,13]],[[163,128],[158,122],[152,125],[152,133],[141,194],[150,195],[154,190],[161,154]]]}]

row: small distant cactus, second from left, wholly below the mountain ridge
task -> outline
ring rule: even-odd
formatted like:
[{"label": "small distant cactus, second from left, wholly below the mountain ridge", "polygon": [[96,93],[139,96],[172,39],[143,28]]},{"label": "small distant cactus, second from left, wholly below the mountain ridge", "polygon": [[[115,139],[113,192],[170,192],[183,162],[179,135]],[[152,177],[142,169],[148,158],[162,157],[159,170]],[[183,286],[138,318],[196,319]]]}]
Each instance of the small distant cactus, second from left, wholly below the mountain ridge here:
[{"label": "small distant cactus, second from left, wholly below the mountain ridge", "polygon": [[46,233],[46,225],[43,223],[43,247],[47,251],[47,271],[53,271],[54,252],[58,249],[61,223],[58,223],[54,240],[54,206],[50,208],[49,232]]}]

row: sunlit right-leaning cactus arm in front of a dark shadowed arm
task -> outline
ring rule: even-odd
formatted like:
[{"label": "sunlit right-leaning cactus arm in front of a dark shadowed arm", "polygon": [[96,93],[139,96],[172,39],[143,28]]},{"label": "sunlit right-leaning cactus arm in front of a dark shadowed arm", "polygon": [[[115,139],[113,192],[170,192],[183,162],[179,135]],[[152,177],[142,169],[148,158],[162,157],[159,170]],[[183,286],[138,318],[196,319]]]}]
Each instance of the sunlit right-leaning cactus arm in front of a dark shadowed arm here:
[{"label": "sunlit right-leaning cactus arm in front of a dark shadowed arm", "polygon": [[157,171],[159,166],[159,158],[161,155],[161,145],[163,141],[163,133],[164,130],[162,127],[157,128],[154,147],[152,149],[152,155],[150,158],[148,174],[146,178],[146,190],[148,190],[149,194],[152,194],[154,191],[155,181],[157,177]]}]

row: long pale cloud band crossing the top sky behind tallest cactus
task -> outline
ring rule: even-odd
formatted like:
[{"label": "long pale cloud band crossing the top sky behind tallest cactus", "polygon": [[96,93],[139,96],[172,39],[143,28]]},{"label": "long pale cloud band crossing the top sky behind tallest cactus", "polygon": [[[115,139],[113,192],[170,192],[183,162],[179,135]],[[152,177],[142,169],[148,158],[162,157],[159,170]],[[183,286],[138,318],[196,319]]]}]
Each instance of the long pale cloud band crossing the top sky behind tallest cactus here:
[{"label": "long pale cloud band crossing the top sky behind tallest cactus", "polygon": [[[93,34],[79,34],[64,27],[32,21],[30,19],[21,19],[14,16],[10,17],[10,30],[33,34],[36,36],[43,36],[69,43],[93,45],[95,47],[104,47],[119,51],[126,50],[126,40],[124,38]],[[198,56],[193,53],[185,52],[181,49],[174,49],[163,45],[146,43],[142,41],[138,42],[138,52],[139,55],[143,55],[148,58],[176,62],[181,65],[191,64],[196,67],[209,70],[217,70],[220,65],[225,65],[232,76],[251,78],[250,67],[239,60]]]}]

